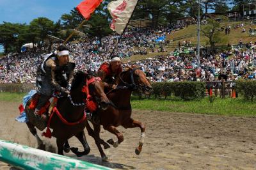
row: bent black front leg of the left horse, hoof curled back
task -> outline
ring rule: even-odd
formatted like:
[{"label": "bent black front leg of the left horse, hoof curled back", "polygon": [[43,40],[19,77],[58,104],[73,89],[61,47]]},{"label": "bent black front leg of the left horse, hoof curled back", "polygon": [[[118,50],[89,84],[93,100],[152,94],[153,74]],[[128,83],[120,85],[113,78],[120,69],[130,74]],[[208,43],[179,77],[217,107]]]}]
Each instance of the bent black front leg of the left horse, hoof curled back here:
[{"label": "bent black front leg of the left horse, hoof curled back", "polygon": [[78,148],[70,148],[70,150],[73,153],[75,153],[77,157],[82,157],[83,155],[88,155],[88,153],[90,153],[90,151],[91,151],[91,148],[86,141],[84,131],[79,132],[79,134],[77,134],[76,137],[80,141],[80,143],[83,145],[84,151],[80,152],[80,151],[78,151]]}]

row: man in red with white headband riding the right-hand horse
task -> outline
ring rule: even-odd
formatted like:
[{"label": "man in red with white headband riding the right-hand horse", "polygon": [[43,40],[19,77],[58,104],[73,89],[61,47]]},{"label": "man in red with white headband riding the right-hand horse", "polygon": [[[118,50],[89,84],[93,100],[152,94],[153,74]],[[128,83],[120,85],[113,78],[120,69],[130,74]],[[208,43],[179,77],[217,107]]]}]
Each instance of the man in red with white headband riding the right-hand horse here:
[{"label": "man in red with white headband riding the right-hand horse", "polygon": [[100,66],[97,76],[102,79],[104,86],[108,89],[116,88],[116,77],[123,71],[121,60],[118,56],[112,56],[110,62],[104,62]]}]

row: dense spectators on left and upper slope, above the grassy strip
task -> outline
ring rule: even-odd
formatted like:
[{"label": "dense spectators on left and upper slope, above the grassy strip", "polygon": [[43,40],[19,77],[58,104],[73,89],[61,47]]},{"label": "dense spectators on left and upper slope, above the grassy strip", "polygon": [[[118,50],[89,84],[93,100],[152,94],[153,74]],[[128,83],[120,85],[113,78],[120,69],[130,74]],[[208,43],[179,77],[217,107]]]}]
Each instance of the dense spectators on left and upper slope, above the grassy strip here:
[{"label": "dense spectators on left and upper slope, above the grassy strip", "polygon": [[[147,54],[147,49],[156,46],[155,40],[168,33],[170,29],[163,27],[155,31],[153,29],[129,29],[113,54],[120,58],[128,58],[132,54]],[[102,62],[108,61],[119,38],[120,36],[110,35],[102,40],[95,38],[83,42],[67,43],[71,57],[76,61],[76,69],[97,71]],[[52,45],[52,49],[55,50],[57,46],[58,44]],[[43,49],[41,52],[29,51],[1,58],[0,83],[34,83],[36,69],[43,61],[45,54],[47,54],[46,50]]]}]

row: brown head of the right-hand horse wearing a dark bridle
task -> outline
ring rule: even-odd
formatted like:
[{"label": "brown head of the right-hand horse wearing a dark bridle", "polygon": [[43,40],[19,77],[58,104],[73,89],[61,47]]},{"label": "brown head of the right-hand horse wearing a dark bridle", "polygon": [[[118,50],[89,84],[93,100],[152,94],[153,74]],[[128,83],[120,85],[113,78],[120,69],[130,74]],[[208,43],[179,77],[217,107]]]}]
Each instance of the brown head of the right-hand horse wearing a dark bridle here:
[{"label": "brown head of the right-hand horse wearing a dark bridle", "polygon": [[[129,67],[127,71],[121,73],[119,79],[122,83],[128,85],[132,90],[138,89],[146,95],[153,91],[153,88],[145,73],[136,66]],[[126,80],[124,81],[124,79]]]}]

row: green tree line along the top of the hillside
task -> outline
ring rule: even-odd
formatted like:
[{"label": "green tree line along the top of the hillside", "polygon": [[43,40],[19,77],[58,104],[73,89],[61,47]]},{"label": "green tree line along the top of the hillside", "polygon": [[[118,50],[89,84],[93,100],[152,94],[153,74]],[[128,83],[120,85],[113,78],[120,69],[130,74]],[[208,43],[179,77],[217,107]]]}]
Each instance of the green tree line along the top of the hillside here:
[{"label": "green tree line along the top of the hillside", "polygon": [[[113,33],[109,29],[111,15],[106,8],[110,1],[113,0],[104,1],[79,31],[89,38],[96,36],[99,40]],[[222,14],[229,11],[242,12],[241,4],[246,2],[247,0],[204,0],[200,3],[200,13],[205,15],[209,10]],[[228,4],[233,4],[232,9],[228,8]],[[167,26],[175,23],[180,17],[196,18],[197,12],[198,0],[139,0],[132,19],[149,17],[152,20],[151,26],[156,28],[159,25]],[[30,42],[33,43],[33,50],[41,50],[44,47],[51,51],[52,43],[55,41],[52,36],[65,40],[82,20],[83,17],[74,8],[69,13],[61,15],[58,22],[53,22],[45,17],[33,19],[29,24],[3,22],[0,24],[0,45],[3,45],[4,53],[20,52],[22,45]],[[74,35],[72,38],[77,38],[77,36]]]}]

